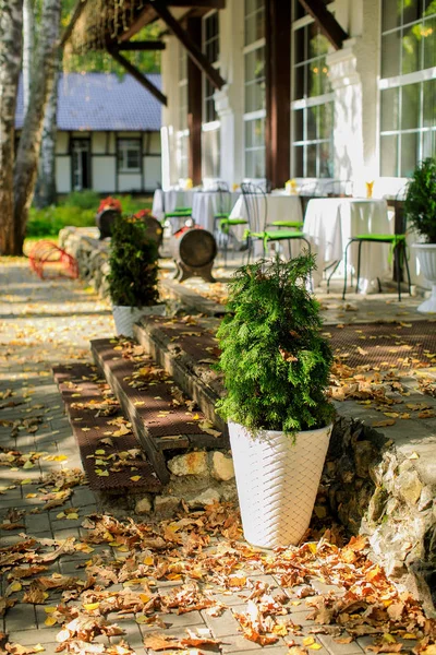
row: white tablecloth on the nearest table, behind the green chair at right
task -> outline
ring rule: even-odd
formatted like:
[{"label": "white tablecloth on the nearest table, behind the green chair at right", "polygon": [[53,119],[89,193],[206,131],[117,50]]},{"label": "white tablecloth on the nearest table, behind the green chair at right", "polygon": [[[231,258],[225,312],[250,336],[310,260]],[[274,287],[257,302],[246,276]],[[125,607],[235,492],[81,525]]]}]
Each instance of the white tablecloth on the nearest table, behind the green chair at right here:
[{"label": "white tablecloth on the nearest table, behind the green chair at right", "polygon": [[[315,286],[320,282],[323,269],[341,261],[350,237],[362,234],[393,234],[393,219],[389,219],[385,200],[354,198],[320,198],[307,204],[304,228],[312,251],[317,255],[318,270]],[[370,289],[371,281],[383,277],[389,269],[387,243],[363,243],[361,261],[361,290]],[[348,250],[348,263],[356,269],[358,245]]]}]

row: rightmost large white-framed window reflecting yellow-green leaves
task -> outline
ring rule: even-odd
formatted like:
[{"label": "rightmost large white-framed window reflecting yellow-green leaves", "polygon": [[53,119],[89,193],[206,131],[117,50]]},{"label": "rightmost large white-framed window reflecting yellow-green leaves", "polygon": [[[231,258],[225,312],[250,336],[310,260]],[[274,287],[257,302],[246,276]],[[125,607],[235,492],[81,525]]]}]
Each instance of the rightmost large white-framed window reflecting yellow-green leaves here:
[{"label": "rightmost large white-framed window reflecting yellow-green leaves", "polygon": [[436,154],[436,0],[382,1],[380,174]]}]

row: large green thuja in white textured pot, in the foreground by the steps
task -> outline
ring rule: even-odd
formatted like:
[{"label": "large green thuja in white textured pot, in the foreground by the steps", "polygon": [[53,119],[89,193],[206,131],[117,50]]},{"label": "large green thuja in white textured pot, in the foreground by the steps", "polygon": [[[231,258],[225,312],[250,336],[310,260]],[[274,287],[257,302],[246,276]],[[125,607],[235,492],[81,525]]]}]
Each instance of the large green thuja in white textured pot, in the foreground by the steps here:
[{"label": "large green thuja in white textured pot, in the foreground by the steps", "polygon": [[219,369],[244,536],[298,544],[310,524],[331,432],[332,354],[307,291],[312,255],[258,261],[230,281]]}]

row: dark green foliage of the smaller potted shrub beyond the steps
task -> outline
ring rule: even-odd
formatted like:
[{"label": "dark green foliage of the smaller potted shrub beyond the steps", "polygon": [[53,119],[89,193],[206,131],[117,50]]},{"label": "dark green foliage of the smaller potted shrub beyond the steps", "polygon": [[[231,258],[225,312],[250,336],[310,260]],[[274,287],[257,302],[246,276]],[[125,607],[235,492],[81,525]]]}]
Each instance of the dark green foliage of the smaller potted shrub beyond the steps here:
[{"label": "dark green foliage of the smaller potted shrub beyond the steps", "polygon": [[142,221],[120,216],[111,237],[109,294],[113,305],[157,305],[158,248],[146,239]]}]

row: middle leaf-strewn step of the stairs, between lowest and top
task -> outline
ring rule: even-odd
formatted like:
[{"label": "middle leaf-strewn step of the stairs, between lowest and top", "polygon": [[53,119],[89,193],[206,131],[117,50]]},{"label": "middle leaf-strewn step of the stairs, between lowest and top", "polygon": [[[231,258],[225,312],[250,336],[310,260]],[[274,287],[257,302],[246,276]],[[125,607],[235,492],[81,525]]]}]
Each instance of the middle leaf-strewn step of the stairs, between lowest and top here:
[{"label": "middle leaf-strewn step of the stairs, between lowest and top", "polygon": [[130,340],[95,340],[92,352],[159,479],[174,451],[227,449],[228,439],[194,409],[173,379]]}]

